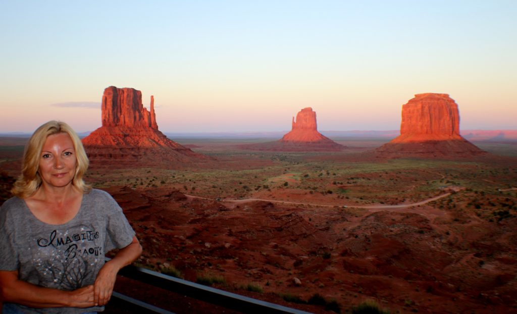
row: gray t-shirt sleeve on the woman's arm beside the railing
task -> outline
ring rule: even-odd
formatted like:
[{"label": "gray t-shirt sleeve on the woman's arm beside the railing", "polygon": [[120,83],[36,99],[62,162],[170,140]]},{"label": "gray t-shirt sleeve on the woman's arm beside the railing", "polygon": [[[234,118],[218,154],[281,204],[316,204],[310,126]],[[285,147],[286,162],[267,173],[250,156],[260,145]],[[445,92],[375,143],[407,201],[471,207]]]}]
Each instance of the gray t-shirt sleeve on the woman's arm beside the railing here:
[{"label": "gray t-shirt sleeve on the woman's arm beside the railing", "polygon": [[105,205],[107,208],[107,221],[106,221],[106,243],[105,252],[109,252],[113,249],[120,249],[128,246],[133,241],[135,232],[126,216],[122,212],[122,208],[118,203],[109,195],[104,192]]}]

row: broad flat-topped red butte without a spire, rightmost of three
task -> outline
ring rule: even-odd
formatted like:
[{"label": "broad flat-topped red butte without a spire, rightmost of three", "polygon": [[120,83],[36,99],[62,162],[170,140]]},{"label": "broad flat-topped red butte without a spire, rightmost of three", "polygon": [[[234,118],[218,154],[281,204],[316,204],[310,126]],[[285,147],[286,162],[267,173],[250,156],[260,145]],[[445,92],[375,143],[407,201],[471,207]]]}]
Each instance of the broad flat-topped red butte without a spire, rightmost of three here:
[{"label": "broad flat-topped red butte without a spire, rightmost of three", "polygon": [[400,136],[375,149],[383,158],[468,158],[486,154],[460,135],[458,104],[448,94],[416,94],[402,106]]}]

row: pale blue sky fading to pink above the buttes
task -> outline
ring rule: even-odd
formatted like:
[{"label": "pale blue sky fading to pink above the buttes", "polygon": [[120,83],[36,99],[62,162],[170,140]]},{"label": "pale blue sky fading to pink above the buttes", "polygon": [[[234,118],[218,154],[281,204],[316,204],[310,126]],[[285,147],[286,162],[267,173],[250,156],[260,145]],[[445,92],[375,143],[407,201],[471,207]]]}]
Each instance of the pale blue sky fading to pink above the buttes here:
[{"label": "pale blue sky fading to pink above the buttes", "polygon": [[397,130],[446,93],[461,129],[517,129],[517,2],[2,1],[0,132],[101,126],[108,86],[162,132]]}]

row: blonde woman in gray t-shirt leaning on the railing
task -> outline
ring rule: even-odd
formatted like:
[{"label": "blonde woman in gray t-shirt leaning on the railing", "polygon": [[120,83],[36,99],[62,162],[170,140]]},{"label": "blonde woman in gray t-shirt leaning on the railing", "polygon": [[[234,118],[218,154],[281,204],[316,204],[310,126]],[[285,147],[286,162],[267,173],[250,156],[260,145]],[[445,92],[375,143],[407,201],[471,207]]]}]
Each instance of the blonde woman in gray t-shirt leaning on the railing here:
[{"label": "blonde woman in gray t-shirt leaning on the railing", "polygon": [[14,197],[0,208],[4,314],[102,311],[117,272],[140,256],[115,200],[84,183],[87,168],[81,140],[66,123],[45,123],[29,140]]}]

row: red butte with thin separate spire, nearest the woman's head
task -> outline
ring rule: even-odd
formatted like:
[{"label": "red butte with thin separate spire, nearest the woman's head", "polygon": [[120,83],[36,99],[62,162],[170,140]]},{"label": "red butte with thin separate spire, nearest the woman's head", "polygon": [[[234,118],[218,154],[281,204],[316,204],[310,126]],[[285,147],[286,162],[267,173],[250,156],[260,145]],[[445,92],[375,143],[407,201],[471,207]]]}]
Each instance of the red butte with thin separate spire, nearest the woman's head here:
[{"label": "red butte with thin separate spire, nearest the woman's head", "polygon": [[142,92],[110,86],[104,89],[101,109],[102,126],[82,140],[92,166],[174,168],[209,159],[158,130],[153,96],[148,111]]}]

